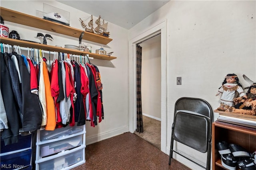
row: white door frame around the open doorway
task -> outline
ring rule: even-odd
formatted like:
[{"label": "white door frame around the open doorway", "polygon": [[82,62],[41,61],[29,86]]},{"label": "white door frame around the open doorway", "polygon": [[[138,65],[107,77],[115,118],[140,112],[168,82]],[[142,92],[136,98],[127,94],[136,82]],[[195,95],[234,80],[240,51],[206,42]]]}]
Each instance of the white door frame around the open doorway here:
[{"label": "white door frame around the open doorway", "polygon": [[161,33],[161,151],[167,143],[167,20],[162,21],[129,41],[129,131],[136,129],[136,44]]}]

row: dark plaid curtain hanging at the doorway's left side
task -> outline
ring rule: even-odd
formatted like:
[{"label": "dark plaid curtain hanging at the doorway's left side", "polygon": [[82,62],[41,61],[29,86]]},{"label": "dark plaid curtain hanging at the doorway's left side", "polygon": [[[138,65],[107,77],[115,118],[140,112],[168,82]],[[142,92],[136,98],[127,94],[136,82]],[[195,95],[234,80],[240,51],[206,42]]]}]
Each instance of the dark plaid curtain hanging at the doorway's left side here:
[{"label": "dark plaid curtain hanging at the doorway's left side", "polygon": [[139,133],[143,132],[143,119],[142,119],[142,101],[141,101],[141,59],[142,47],[136,47],[136,88],[137,88],[137,129]]}]

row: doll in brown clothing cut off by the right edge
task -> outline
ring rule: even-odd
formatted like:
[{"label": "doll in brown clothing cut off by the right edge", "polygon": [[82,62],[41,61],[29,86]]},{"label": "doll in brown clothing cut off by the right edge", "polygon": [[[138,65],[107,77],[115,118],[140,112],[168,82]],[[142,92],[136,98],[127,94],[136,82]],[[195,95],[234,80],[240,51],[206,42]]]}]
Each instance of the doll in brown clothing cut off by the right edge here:
[{"label": "doll in brown clothing cut off by the right edge", "polygon": [[240,113],[246,115],[256,115],[256,83],[253,83],[247,93],[247,99],[235,98],[235,106],[230,109],[232,113]]}]

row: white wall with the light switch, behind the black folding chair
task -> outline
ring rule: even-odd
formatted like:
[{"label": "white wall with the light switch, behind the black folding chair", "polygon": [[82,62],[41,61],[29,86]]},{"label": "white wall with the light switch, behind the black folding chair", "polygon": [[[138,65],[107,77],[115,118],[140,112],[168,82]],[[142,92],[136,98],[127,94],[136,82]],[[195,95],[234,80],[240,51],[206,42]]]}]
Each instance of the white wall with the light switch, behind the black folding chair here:
[{"label": "white wall with the light switch, behind the black folding chair", "polygon": [[[202,98],[216,109],[215,94],[226,74],[237,74],[244,87],[249,84],[242,74],[256,80],[255,6],[256,1],[170,1],[129,30],[131,40],[167,20],[167,153],[178,98]],[[176,85],[180,76],[182,85]],[[180,148],[196,160],[205,160],[205,155]],[[202,169],[175,158],[192,169]]]}]

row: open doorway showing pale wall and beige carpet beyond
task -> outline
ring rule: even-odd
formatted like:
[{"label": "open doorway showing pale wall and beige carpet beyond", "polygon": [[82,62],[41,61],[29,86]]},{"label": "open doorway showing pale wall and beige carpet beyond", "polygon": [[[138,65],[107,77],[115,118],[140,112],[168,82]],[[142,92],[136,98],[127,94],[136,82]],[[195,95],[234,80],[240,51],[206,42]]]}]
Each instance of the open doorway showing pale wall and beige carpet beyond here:
[{"label": "open doorway showing pale wall and beige carpet beyond", "polygon": [[141,106],[143,133],[137,131],[134,131],[134,133],[161,149],[161,35],[159,33],[137,45],[142,47]]}]

